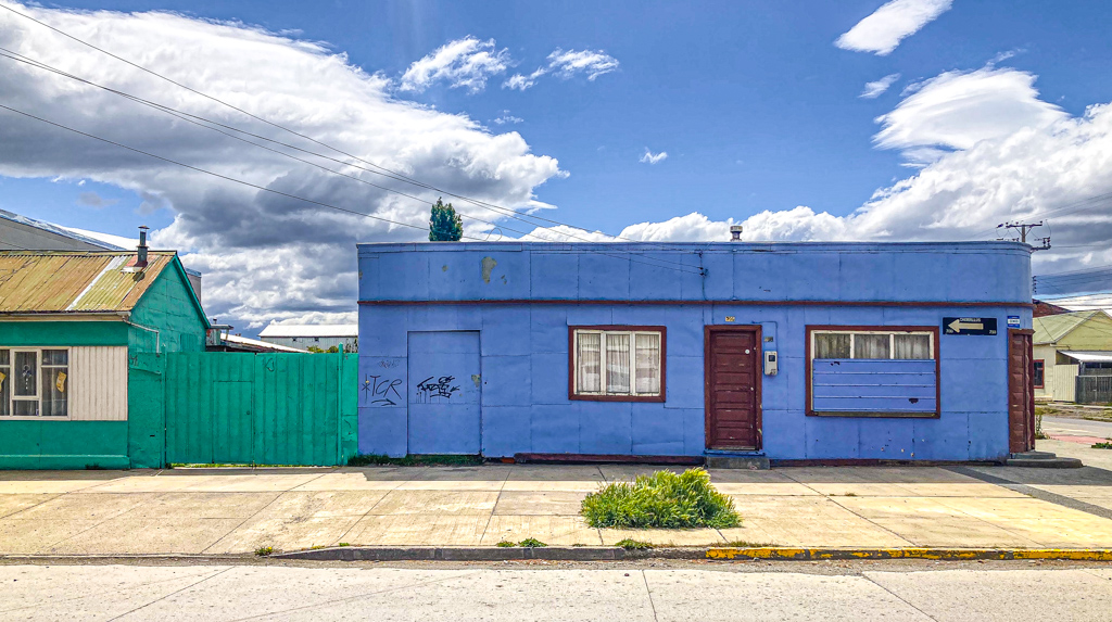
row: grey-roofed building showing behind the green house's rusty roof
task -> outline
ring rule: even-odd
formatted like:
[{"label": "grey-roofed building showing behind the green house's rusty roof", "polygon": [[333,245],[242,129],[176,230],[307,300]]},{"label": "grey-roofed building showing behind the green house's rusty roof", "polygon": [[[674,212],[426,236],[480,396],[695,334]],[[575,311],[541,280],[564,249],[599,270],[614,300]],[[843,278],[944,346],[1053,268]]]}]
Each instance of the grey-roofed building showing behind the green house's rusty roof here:
[{"label": "grey-roofed building showing behind the green house's rusty roof", "polygon": [[[113,243],[115,242],[115,243]],[[135,240],[95,231],[83,231],[34,220],[0,210],[0,250],[10,251],[122,251]],[[201,299],[201,273],[183,268],[189,283]]]}]

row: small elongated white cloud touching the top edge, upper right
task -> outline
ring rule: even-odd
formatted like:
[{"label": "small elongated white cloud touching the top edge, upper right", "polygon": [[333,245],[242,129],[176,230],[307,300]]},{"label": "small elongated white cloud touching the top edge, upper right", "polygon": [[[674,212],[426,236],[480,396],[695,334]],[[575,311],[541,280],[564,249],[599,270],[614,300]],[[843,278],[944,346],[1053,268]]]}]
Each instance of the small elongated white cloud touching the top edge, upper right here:
[{"label": "small elongated white cloud touching the top edge, upper right", "polygon": [[837,38],[835,46],[887,56],[906,37],[950,10],[953,0],[892,0]]}]

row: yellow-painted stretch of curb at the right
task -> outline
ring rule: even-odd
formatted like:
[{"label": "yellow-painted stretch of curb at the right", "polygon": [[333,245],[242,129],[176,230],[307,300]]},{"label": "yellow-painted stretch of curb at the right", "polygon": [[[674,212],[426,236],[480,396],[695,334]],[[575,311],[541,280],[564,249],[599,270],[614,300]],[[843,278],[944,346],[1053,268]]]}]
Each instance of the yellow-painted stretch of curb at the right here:
[{"label": "yellow-painted stretch of curb at the right", "polygon": [[793,549],[723,546],[708,549],[709,560],[1068,560],[1112,561],[1109,549]]}]

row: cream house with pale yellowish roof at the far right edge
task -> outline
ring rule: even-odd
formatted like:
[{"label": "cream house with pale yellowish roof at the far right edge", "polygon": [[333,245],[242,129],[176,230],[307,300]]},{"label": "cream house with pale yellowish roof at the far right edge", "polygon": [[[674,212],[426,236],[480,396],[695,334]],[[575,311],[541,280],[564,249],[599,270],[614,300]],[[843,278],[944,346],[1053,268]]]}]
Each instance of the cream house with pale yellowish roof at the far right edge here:
[{"label": "cream house with pale yellowish roof at the far right edge", "polygon": [[1075,401],[1079,375],[1112,375],[1112,317],[1073,311],[1034,318],[1035,398]]}]

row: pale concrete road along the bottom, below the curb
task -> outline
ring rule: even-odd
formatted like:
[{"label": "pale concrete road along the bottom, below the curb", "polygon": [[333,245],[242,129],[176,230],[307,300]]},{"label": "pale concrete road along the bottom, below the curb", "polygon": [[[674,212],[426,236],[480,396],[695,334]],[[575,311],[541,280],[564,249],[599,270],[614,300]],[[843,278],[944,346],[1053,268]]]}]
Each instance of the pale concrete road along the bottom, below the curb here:
[{"label": "pale concrete road along the bottom, below the curb", "polygon": [[1112,612],[1109,565],[753,568],[0,565],[0,620],[1089,622]]}]

